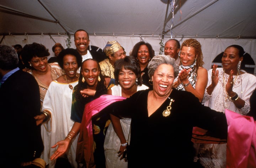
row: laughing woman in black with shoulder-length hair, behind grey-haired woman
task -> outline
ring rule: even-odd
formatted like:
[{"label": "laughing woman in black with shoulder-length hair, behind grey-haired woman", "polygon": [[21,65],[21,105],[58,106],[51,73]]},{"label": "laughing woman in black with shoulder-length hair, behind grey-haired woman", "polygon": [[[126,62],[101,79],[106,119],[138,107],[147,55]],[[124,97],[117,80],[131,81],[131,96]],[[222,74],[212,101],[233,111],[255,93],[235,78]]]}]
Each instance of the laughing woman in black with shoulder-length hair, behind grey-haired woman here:
[{"label": "laughing woman in black with shoulder-length hair, behind grey-haired woman", "polygon": [[153,85],[149,83],[149,76],[148,76],[148,63],[149,61],[155,56],[155,52],[152,46],[144,41],[137,42],[130,53],[130,56],[133,56],[137,59],[140,70],[142,71],[142,83],[148,86],[150,89],[153,89]]}]

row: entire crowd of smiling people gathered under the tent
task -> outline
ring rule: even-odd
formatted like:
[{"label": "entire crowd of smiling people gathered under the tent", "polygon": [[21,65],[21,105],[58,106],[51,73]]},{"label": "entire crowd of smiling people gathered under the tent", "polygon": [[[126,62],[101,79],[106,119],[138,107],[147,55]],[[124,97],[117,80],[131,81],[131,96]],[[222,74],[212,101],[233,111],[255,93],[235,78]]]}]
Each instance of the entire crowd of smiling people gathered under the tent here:
[{"label": "entire crowd of smiling people gathered under the tent", "polygon": [[[256,136],[243,142],[237,133],[256,134],[246,129],[256,128],[256,76],[241,69],[244,48],[226,47],[222,68],[207,70],[196,39],[167,40],[164,55],[140,41],[128,56],[118,41],[103,53],[88,50],[83,29],[74,42],[56,43],[49,60],[36,42],[0,45],[0,105],[15,124],[1,122],[8,137],[1,166],[40,159],[47,168],[256,166]],[[230,155],[231,136],[251,147],[248,155]]]}]

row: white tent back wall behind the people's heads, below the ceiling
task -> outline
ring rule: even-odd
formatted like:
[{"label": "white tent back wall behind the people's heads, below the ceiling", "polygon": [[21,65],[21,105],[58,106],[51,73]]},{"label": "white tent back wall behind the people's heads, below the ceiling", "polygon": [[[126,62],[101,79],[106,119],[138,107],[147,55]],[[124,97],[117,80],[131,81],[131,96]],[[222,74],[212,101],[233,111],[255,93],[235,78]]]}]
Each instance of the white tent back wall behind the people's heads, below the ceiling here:
[{"label": "white tent back wall behind the people's heads, below the ceiling", "polygon": [[[180,44],[186,39],[187,37],[173,37],[174,39],[177,39],[180,41]],[[236,44],[240,45],[244,48],[245,52],[249,53],[256,63],[256,39],[221,39],[221,38],[197,38],[193,37],[194,39],[198,40],[201,43],[202,46],[202,52],[203,52],[203,61],[204,61],[204,68],[207,70],[210,69],[211,63],[213,59],[221,52],[225,50],[226,47]],[[54,56],[54,53],[52,51],[52,46],[54,46],[55,42],[59,42],[62,44],[64,48],[67,48],[68,44],[68,36],[63,35],[10,35],[10,36],[0,36],[1,44],[4,45],[15,45],[20,44],[25,46],[26,44],[32,44],[33,42],[37,42],[40,44],[43,44],[46,46],[46,48],[49,49],[50,57]],[[156,36],[146,36],[146,37],[140,37],[140,36],[100,36],[100,35],[90,35],[90,45],[97,46],[99,48],[104,48],[107,41],[113,41],[116,40],[121,44],[125,51],[127,52],[127,55],[132,50],[133,46],[139,42],[139,41],[145,41],[151,44],[155,51],[155,55],[159,54],[160,51],[160,42],[162,37],[156,37]],[[164,38],[164,43],[169,40],[170,37]],[[71,35],[70,39],[70,48],[75,48],[74,44],[74,36]],[[162,48],[163,51],[164,48]],[[162,52],[164,54],[164,52]],[[255,68],[255,67],[253,67]],[[254,69],[254,75],[256,75],[256,68]]]}]

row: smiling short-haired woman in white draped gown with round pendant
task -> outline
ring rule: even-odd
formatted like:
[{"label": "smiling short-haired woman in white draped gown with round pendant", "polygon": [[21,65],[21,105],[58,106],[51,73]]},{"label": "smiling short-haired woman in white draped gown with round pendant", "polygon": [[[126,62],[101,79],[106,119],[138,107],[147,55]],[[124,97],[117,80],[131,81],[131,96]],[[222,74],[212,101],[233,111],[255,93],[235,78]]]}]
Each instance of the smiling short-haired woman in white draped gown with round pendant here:
[{"label": "smiling short-haired woman in white draped gown with round pendant", "polygon": [[50,156],[56,150],[51,147],[62,139],[72,139],[69,150],[62,157],[66,158],[71,166],[76,168],[78,167],[75,161],[78,136],[74,137],[74,133],[70,132],[74,124],[70,115],[72,92],[75,85],[78,84],[79,77],[76,72],[81,66],[82,58],[75,49],[67,48],[59,53],[58,63],[65,73],[50,83],[43,101],[43,111],[50,112],[52,117],[41,126],[44,143],[44,151],[41,157],[46,161],[46,164],[49,164],[49,168],[54,168],[58,160],[50,160]]}]

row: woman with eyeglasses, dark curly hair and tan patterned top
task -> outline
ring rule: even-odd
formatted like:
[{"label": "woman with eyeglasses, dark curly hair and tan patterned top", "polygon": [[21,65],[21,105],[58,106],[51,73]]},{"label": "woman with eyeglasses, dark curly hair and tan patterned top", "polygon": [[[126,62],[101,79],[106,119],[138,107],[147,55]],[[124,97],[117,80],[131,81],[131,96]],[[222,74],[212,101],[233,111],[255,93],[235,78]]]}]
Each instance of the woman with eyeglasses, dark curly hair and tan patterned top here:
[{"label": "woman with eyeglasses, dark curly hair and tan patterned top", "polygon": [[[27,68],[29,68],[26,71],[34,76],[39,85],[41,108],[50,82],[62,75],[62,68],[60,68],[58,63],[48,64],[47,57],[49,55],[50,53],[48,49],[44,45],[36,42],[25,45],[21,51],[23,63]],[[41,116],[43,117],[43,114]],[[49,116],[46,115],[43,118],[38,119],[42,123],[45,117]]]}]

